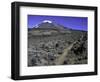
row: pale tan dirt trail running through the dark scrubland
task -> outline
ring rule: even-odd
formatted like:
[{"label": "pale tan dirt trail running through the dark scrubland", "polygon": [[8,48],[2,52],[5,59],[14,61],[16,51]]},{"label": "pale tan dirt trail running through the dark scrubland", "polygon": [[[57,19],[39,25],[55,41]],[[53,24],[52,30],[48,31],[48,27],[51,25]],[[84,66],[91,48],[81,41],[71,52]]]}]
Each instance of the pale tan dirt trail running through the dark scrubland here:
[{"label": "pale tan dirt trail running through the dark scrubland", "polygon": [[68,51],[73,47],[73,45],[75,43],[76,43],[76,41],[74,43],[72,43],[69,47],[64,49],[63,54],[61,54],[61,56],[55,60],[56,65],[63,64],[63,62],[65,61],[65,57],[68,55]]}]

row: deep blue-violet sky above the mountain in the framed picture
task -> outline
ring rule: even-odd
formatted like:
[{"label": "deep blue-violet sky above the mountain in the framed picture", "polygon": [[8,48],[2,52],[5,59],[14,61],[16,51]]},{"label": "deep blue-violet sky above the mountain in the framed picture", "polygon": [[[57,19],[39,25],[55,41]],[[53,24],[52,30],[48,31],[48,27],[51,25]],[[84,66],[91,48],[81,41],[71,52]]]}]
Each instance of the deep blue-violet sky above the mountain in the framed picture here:
[{"label": "deep blue-violet sky above the mountain in the framed picture", "polygon": [[88,18],[87,17],[71,17],[71,16],[47,16],[47,15],[28,15],[28,28],[33,28],[44,20],[50,20],[54,23],[63,25],[76,30],[87,31]]}]

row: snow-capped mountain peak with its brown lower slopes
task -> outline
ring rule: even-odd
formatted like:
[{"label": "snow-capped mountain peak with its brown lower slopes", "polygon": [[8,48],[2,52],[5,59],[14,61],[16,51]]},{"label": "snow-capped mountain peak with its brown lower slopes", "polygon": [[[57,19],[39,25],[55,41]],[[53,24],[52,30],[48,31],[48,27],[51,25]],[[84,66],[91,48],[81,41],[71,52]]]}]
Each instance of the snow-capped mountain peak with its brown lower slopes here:
[{"label": "snow-capped mountain peak with its brown lower slopes", "polygon": [[50,20],[43,20],[40,24],[29,30],[29,37],[33,35],[60,35],[71,33],[70,29]]}]

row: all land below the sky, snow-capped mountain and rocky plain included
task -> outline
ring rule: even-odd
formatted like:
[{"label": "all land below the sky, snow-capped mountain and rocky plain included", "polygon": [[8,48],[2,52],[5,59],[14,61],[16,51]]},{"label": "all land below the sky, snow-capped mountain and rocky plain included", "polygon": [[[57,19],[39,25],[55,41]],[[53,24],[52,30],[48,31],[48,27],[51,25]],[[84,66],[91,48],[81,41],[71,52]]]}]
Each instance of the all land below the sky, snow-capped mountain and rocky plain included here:
[{"label": "all land below the sky, snow-capped mountain and rocky plain included", "polygon": [[44,21],[28,30],[28,66],[87,64],[87,32]]}]

